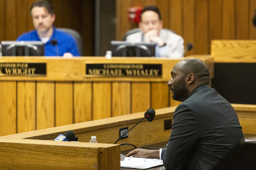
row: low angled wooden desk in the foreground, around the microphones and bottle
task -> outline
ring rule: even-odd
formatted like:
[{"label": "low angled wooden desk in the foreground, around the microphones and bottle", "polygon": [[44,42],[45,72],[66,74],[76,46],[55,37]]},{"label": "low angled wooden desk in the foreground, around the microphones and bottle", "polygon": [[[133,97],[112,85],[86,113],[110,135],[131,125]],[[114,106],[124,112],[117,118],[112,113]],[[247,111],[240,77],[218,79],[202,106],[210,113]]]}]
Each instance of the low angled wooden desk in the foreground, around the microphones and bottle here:
[{"label": "low angled wooden desk in the foreground, around the microphones and bottle", "polygon": [[[256,105],[232,104],[232,106],[237,112],[243,133],[256,135]],[[128,138],[121,139],[118,143],[131,143],[137,147],[142,147],[166,142],[170,137],[171,129],[164,130],[164,121],[172,119],[175,108],[156,109],[156,116],[152,122],[143,120],[129,132]],[[111,143],[114,143],[119,138],[119,129],[124,127],[129,127],[130,129],[143,117],[144,112],[139,112],[2,136],[0,137],[0,152],[3,154],[0,154],[0,167],[14,170],[24,169],[22,167],[29,169],[23,159],[27,158],[30,159],[29,166],[31,169],[37,167],[37,164],[41,165],[41,169],[58,169],[58,167],[61,169],[69,163],[73,165],[73,161],[81,169],[86,169],[89,166],[93,167],[87,164],[94,164],[95,166],[92,169],[107,169],[109,167],[114,167],[115,169],[117,166],[120,168],[120,151],[131,149],[131,147],[120,147],[120,145],[113,145]],[[53,141],[59,134],[65,134],[67,130],[72,130],[78,136],[78,141],[80,142]],[[93,146],[87,143],[92,135],[97,136],[98,142],[102,144],[93,144]],[[88,150],[88,152],[85,152],[85,150]],[[76,153],[78,153],[79,158],[83,157],[83,159],[81,158],[82,161],[79,162],[80,159],[77,159]],[[109,157],[109,155],[111,156]],[[88,157],[91,161],[84,162],[83,160],[86,160]],[[46,162],[49,160],[50,162],[43,164],[44,160]]]}]

